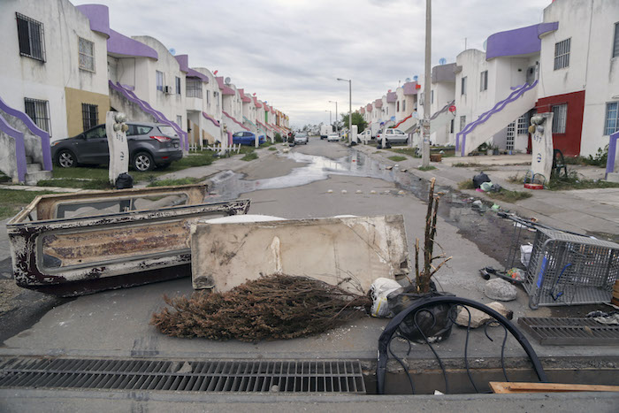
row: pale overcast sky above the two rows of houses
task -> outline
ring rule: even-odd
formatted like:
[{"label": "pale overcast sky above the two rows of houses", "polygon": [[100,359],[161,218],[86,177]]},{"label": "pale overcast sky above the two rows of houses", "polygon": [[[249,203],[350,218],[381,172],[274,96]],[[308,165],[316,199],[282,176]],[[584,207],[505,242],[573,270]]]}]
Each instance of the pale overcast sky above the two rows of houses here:
[{"label": "pale overcast sky above the two rows of houses", "polygon": [[[189,66],[218,70],[290,116],[291,125],[327,123],[424,78],[424,0],[73,0],[106,4],[110,26],[150,35]],[[551,0],[432,0],[432,66],[482,49],[493,33],[542,20]]]}]

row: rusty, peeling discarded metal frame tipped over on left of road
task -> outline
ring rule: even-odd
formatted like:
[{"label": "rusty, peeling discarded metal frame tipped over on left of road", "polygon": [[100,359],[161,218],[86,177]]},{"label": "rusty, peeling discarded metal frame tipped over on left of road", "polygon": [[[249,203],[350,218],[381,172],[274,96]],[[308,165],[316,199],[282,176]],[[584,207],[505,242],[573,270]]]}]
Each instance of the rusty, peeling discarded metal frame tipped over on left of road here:
[{"label": "rusty, peeling discarded metal frame tipped over on left of road", "polygon": [[72,296],[188,276],[192,224],[249,208],[206,196],[205,185],[37,196],[6,226],[15,280]]}]

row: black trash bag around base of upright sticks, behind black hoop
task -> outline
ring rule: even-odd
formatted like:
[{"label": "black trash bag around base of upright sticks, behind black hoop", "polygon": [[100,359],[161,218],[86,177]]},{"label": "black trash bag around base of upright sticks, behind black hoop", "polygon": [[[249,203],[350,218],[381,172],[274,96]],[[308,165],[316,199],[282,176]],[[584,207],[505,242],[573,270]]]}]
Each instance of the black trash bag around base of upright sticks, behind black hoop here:
[{"label": "black trash bag around base of upright sticks, behind black hoop", "polygon": [[[454,294],[439,293],[436,291],[433,282],[430,283],[430,287],[431,292],[427,294],[417,294],[415,285],[395,290],[387,295],[389,310],[393,311],[394,314],[398,314],[420,300],[439,296],[454,296]],[[430,343],[447,340],[449,335],[451,335],[456,315],[455,306],[436,304],[432,307],[410,313],[398,325],[398,332],[407,339],[420,344],[426,342],[424,336]]]}]

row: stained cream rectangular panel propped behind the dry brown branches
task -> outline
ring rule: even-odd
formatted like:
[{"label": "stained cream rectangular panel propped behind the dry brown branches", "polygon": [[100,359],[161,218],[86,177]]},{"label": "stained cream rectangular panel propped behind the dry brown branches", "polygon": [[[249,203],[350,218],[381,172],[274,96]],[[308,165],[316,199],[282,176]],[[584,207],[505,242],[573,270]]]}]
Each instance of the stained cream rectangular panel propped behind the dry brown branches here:
[{"label": "stained cream rectangular panel propped behind the dry brown branches", "polygon": [[367,292],[378,277],[400,279],[410,272],[401,215],[198,223],[191,246],[194,288],[218,292],[261,273]]}]

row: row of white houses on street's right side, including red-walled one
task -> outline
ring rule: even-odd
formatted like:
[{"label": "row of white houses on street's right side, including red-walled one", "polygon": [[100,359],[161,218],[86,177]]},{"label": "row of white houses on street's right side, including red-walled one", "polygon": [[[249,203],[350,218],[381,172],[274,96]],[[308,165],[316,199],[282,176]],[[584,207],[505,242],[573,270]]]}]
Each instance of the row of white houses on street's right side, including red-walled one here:
[{"label": "row of white houses on street's right side, including red-walled one", "polygon": [[[431,141],[462,156],[481,143],[531,150],[529,119],[554,112],[554,148],[595,155],[619,131],[619,2],[554,0],[543,22],[490,35],[432,68]],[[420,85],[406,82],[359,109],[372,131],[414,132],[423,119]],[[418,96],[418,98],[417,98]]]}]

